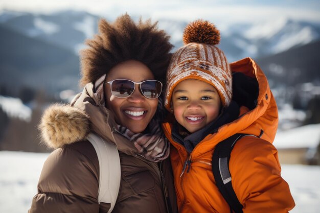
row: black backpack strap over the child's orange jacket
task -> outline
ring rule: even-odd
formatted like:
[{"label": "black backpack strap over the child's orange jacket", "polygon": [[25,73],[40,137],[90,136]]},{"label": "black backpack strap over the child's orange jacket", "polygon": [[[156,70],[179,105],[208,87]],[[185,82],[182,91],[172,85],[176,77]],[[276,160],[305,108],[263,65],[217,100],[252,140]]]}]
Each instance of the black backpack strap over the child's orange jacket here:
[{"label": "black backpack strap over the child's orange jacket", "polygon": [[237,140],[245,134],[235,134],[221,141],[215,148],[212,156],[212,172],[220,193],[229,204],[231,211],[242,213],[243,206],[239,202],[231,184],[229,160],[231,151]]}]

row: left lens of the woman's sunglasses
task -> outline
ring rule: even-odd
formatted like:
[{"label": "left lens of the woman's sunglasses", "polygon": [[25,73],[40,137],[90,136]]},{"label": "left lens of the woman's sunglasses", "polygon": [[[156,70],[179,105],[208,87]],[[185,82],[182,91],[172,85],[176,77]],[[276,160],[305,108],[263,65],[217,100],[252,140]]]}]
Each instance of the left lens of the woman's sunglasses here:
[{"label": "left lens of the woman's sunglasses", "polygon": [[115,80],[111,84],[112,94],[118,98],[126,98],[130,96],[133,90],[134,83],[128,80]]}]

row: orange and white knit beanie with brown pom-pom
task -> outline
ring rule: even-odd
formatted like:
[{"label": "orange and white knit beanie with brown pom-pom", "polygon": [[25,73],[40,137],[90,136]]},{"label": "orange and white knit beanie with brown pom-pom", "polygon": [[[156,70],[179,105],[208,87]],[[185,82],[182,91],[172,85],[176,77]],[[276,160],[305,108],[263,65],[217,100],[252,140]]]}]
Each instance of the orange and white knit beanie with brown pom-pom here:
[{"label": "orange and white knit beanie with brown pom-pom", "polygon": [[232,75],[224,53],[216,46],[220,32],[212,23],[196,20],[185,28],[183,41],[185,45],[173,54],[167,71],[166,109],[171,109],[173,89],[186,79],[211,84],[217,89],[222,106],[228,106],[232,99]]}]

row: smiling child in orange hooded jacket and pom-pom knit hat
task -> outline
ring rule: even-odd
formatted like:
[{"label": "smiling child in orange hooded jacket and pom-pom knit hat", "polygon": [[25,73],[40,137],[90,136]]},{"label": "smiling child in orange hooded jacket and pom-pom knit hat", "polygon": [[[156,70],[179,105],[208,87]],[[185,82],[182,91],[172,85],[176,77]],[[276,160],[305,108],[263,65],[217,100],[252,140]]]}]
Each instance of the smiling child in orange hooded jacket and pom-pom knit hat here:
[{"label": "smiling child in orange hooded jacket and pom-pom knit hat", "polygon": [[180,213],[231,212],[212,172],[216,146],[236,134],[229,169],[243,212],[288,212],[294,207],[273,147],[278,110],[267,79],[253,59],[228,64],[219,31],[208,21],[190,23],[167,73],[164,123]]}]

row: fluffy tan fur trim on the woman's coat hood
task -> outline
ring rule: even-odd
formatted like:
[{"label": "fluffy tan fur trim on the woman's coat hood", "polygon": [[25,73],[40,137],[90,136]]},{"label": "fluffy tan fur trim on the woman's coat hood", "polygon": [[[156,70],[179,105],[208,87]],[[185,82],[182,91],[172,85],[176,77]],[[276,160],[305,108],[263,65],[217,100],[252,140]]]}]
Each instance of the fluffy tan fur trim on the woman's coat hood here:
[{"label": "fluffy tan fur trim on the woman's coat hood", "polygon": [[44,111],[38,128],[42,141],[56,149],[84,139],[90,130],[89,117],[77,107],[54,104]]}]

